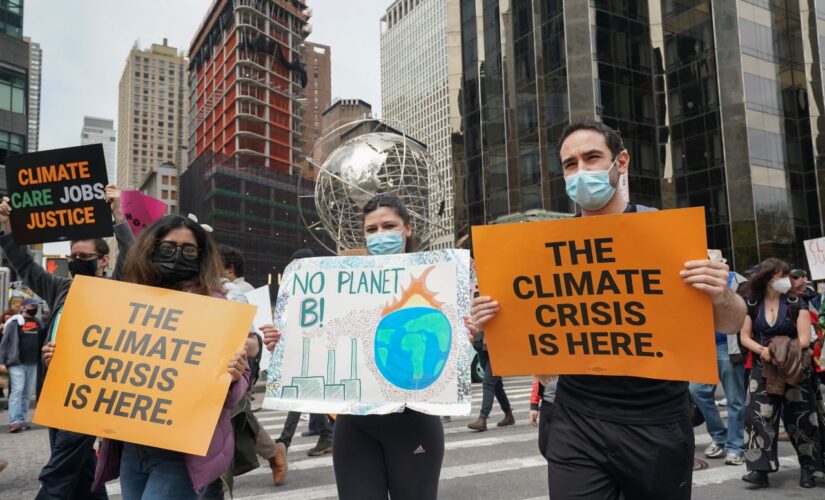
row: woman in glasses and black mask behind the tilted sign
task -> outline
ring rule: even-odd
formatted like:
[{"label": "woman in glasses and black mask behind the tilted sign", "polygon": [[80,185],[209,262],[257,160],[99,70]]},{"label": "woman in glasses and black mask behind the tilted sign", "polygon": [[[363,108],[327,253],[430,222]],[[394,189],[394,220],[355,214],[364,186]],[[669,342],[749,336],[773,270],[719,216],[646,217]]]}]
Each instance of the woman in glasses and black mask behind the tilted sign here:
[{"label": "woman in glasses and black mask behind the tilted sign", "polygon": [[[194,218],[170,215],[152,224],[135,241],[126,259],[125,279],[141,285],[223,297],[222,270],[220,255],[207,229]],[[220,476],[229,467],[234,449],[230,410],[249,386],[250,372],[244,350],[235,353],[226,370],[232,376],[232,383],[226,395],[216,395],[224,399],[224,404],[206,456],[104,439],[95,486],[119,475],[125,500],[223,498]]]}]

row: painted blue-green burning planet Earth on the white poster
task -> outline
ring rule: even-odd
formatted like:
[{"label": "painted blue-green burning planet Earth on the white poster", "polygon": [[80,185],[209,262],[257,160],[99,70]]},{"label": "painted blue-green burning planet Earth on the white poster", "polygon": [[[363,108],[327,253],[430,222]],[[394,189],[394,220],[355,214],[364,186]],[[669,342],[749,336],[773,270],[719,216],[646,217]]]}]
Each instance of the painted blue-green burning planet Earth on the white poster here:
[{"label": "painted blue-green burning planet Earth on the white poster", "polygon": [[447,316],[432,307],[387,314],[375,331],[378,371],[401,389],[429,387],[441,376],[450,356],[452,333]]}]

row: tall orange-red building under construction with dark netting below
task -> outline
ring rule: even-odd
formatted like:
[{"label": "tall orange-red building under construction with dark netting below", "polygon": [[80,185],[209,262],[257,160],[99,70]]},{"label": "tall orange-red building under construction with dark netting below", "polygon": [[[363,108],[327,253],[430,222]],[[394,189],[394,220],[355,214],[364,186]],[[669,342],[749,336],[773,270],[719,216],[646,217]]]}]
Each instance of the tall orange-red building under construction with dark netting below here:
[{"label": "tall orange-red building under construction with dark netting below", "polygon": [[309,15],[297,0],[216,0],[189,48],[180,209],[240,248],[255,284],[275,283],[314,242],[298,209],[299,194],[312,196],[298,175]]}]

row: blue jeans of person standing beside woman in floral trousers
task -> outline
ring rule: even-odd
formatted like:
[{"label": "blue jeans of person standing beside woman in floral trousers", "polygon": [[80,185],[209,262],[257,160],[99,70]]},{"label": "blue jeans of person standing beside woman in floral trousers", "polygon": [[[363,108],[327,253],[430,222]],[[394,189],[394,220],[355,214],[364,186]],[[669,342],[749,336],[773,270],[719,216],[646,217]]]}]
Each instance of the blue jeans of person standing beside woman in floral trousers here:
[{"label": "blue jeans of person standing beside woman in floral trousers", "polygon": [[716,366],[719,381],[728,400],[728,427],[722,422],[716,407],[716,385],[690,383],[690,395],[705,417],[708,434],[714,443],[724,444],[728,453],[745,451],[745,365],[733,364],[728,357],[728,345],[716,346]]}]

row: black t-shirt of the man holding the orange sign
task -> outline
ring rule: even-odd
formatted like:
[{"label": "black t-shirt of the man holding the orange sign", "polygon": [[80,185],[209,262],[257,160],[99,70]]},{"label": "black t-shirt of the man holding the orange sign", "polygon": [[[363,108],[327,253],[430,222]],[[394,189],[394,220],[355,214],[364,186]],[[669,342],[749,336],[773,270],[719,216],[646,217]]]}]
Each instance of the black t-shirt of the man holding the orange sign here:
[{"label": "black t-shirt of the man holding the orange sign", "polygon": [[[636,212],[628,204],[625,213]],[[713,332],[708,332],[712,335]],[[658,425],[688,418],[687,382],[605,375],[562,375],[556,402],[592,418]]]}]

